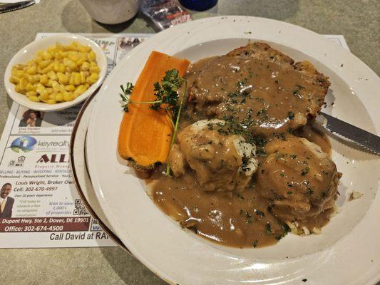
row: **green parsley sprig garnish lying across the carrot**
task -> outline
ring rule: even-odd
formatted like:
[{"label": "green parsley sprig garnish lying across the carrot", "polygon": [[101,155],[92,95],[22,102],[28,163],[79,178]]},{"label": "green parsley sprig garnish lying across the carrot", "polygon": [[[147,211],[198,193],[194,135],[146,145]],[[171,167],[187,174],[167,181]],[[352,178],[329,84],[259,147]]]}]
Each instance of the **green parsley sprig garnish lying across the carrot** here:
[{"label": "green parsley sprig garnish lying across the carrot", "polygon": [[[178,91],[183,83],[183,96],[180,98]],[[149,104],[153,110],[164,110],[170,118],[170,123],[173,126],[173,136],[170,142],[170,150],[172,149],[175,138],[178,133],[178,125],[180,122],[180,113],[183,108],[183,98],[185,98],[188,91],[188,81],[181,78],[177,69],[170,69],[165,72],[165,76],[160,82],[154,84],[155,98],[154,101],[137,102],[130,99],[130,94],[133,91],[133,84],[128,82],[125,86],[120,86],[122,93],[120,97],[122,100],[122,107],[125,112],[129,111],[129,104]],[[166,166],[166,175],[170,175],[170,165]]]}]

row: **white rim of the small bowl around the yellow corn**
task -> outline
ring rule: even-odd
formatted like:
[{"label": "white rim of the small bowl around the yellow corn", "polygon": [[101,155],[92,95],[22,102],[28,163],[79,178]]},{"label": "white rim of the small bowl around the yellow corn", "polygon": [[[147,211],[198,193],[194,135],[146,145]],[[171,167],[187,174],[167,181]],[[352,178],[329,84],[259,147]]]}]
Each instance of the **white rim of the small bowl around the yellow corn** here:
[{"label": "white rim of the small bowl around the yellow corn", "polygon": [[[78,41],[78,43],[81,43],[82,45],[90,46],[92,50],[96,53],[96,62],[99,68],[101,68],[98,81],[96,81],[96,83],[91,85],[90,88],[88,88],[88,90],[86,90],[85,93],[79,95],[75,100],[72,100],[69,102],[47,104],[47,103],[41,103],[41,102],[33,102],[29,100],[29,98],[26,97],[26,95],[16,92],[15,90],[16,86],[9,81],[9,78],[11,77],[12,66],[15,66],[16,64],[19,64],[19,63],[26,63],[27,61],[30,61],[32,58],[34,58],[34,56],[36,56],[37,51],[46,50],[46,48],[48,48],[51,45],[54,45],[57,42],[62,43],[63,45],[68,45],[72,43],[73,41]],[[106,55],[104,54],[101,47],[98,46],[93,41],[91,41],[90,39],[85,38],[83,36],[73,35],[73,34],[48,36],[46,38],[41,38],[40,40],[29,43],[29,45],[24,46],[24,48],[21,48],[21,50],[14,55],[14,57],[11,59],[11,61],[9,61],[8,66],[6,67],[6,71],[4,74],[4,85],[6,88],[6,92],[8,92],[12,100],[16,101],[20,105],[23,105],[24,107],[32,109],[32,110],[39,110],[43,112],[53,112],[53,111],[70,108],[73,105],[77,105],[78,103],[81,103],[83,100],[86,100],[86,98],[88,98],[89,95],[91,95],[99,86],[101,86],[101,83],[106,77],[106,71],[107,71]]]}]

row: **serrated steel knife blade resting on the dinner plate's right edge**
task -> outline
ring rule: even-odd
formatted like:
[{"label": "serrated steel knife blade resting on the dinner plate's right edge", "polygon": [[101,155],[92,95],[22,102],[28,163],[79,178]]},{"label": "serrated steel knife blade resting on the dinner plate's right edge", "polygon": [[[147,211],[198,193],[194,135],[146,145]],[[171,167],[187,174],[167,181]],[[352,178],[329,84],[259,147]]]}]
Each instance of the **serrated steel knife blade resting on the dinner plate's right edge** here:
[{"label": "serrated steel knife blade resting on the dinner plate's right edge", "polygon": [[342,135],[344,138],[348,138],[356,144],[361,145],[366,150],[373,152],[376,155],[380,155],[380,137],[369,133],[366,130],[362,130],[354,125],[334,118],[331,115],[322,113],[321,115],[326,119],[321,125],[332,133]]}]

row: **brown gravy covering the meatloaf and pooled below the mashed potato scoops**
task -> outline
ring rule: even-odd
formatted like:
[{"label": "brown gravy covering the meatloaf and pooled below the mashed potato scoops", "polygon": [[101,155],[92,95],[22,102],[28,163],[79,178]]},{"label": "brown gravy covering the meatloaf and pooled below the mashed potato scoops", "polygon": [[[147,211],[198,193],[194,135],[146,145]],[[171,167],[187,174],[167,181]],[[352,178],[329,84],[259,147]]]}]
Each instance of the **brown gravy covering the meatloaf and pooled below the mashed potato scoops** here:
[{"label": "brown gravy covering the meatloaf and pooled below the mashed potato scoops", "polygon": [[[200,76],[205,70],[207,74]],[[304,125],[310,97],[319,92],[292,69],[255,59],[206,58],[193,64],[187,77],[192,87],[180,128],[205,118],[222,118],[243,125],[243,130],[236,130],[241,135],[253,133],[265,141],[286,140],[295,128]],[[242,89],[247,92],[240,92]],[[299,136],[331,152],[327,137],[314,128],[304,128]],[[262,164],[265,146],[257,147],[261,150],[257,160]],[[174,178],[163,175],[161,167],[146,182],[151,186],[150,196],[165,214],[213,242],[230,247],[265,247],[289,232],[287,224],[272,212],[268,199],[260,195],[263,189],[257,183],[257,173],[238,194],[203,191],[192,170]],[[329,214],[324,211],[315,217],[313,227],[326,224]]]}]

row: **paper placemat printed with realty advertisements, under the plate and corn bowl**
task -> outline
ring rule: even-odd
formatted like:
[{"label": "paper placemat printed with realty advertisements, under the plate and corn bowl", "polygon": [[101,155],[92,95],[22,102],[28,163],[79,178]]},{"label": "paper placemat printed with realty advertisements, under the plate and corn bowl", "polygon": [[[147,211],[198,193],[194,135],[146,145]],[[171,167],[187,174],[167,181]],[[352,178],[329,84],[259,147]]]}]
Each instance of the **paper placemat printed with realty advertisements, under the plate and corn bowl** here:
[{"label": "paper placemat printed with realty advertisements, under the plate and corn bowl", "polygon": [[[83,36],[106,52],[109,73],[149,35]],[[327,37],[348,48],[343,36]],[[115,246],[71,177],[68,150],[80,109],[43,113],[13,103],[0,140],[0,248]]]}]

